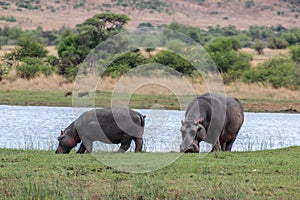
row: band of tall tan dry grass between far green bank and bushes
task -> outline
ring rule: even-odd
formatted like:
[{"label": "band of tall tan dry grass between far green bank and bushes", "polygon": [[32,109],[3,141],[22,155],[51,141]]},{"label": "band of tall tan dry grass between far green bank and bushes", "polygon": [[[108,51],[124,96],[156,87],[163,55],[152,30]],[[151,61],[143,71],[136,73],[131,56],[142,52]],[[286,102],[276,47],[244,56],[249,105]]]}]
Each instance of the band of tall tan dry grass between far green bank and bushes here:
[{"label": "band of tall tan dry grass between far green bank and bushes", "polygon": [[[87,81],[85,87],[81,86],[81,88],[92,90],[95,86],[98,91],[143,95],[193,95],[208,91],[205,83],[193,83],[190,79],[178,77],[123,77],[121,79],[106,77],[99,80],[97,85],[94,81]],[[0,89],[3,91],[67,91],[73,90],[74,84],[67,83],[61,76],[53,75],[40,76],[31,80],[17,79],[13,82],[5,80],[1,82]],[[300,91],[286,88],[274,89],[259,84],[238,82],[226,85],[224,89],[226,94],[241,99],[300,100]]]}]

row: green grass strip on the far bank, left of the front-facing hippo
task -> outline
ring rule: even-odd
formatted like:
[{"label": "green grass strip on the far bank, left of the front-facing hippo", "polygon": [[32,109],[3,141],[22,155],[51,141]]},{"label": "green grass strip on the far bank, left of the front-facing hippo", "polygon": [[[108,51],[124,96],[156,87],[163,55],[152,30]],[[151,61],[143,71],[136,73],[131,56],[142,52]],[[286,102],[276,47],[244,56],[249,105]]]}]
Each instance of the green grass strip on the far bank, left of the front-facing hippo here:
[{"label": "green grass strip on the far bank, left of the front-facing hippo", "polygon": [[[76,105],[87,105],[88,102],[94,102],[96,107],[111,106],[111,92],[96,92],[96,98],[90,97],[76,98]],[[191,97],[184,97],[186,102]],[[126,104],[128,102],[127,94],[117,96],[117,103]],[[179,109],[176,96],[163,95],[137,95],[129,98],[129,105],[134,108],[151,108],[153,104],[160,104],[165,109]],[[63,92],[55,91],[0,91],[0,105],[31,105],[31,106],[72,106],[71,96],[64,97]],[[90,105],[89,105],[90,106]]]}]

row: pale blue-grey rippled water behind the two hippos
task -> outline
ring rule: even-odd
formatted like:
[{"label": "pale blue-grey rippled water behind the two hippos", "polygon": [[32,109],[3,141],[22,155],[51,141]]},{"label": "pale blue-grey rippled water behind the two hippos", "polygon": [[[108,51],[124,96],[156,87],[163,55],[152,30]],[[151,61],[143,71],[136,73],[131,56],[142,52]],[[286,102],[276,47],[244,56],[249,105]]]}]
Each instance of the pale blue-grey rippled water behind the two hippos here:
[{"label": "pale blue-grey rippled water behind the two hippos", "polygon": [[[146,115],[144,150],[178,151],[182,111],[137,110]],[[0,105],[0,148],[55,149],[60,130],[83,112],[70,107]],[[234,151],[300,145],[300,114],[245,113]],[[205,146],[205,145],[203,145]],[[132,148],[134,145],[132,145]],[[96,142],[95,149],[117,150],[118,145]]]}]

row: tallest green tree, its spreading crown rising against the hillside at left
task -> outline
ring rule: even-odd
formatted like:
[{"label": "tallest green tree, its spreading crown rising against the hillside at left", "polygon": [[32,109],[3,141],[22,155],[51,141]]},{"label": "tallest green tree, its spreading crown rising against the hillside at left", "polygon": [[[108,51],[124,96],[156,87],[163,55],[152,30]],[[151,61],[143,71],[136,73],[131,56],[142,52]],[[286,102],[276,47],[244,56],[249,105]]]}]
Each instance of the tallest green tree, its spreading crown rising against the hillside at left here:
[{"label": "tallest green tree, its spreading crown rising against the hillside at left", "polygon": [[76,31],[66,30],[58,44],[61,60],[59,73],[75,77],[77,68],[100,42],[124,29],[129,17],[123,14],[104,12],[77,24]]}]

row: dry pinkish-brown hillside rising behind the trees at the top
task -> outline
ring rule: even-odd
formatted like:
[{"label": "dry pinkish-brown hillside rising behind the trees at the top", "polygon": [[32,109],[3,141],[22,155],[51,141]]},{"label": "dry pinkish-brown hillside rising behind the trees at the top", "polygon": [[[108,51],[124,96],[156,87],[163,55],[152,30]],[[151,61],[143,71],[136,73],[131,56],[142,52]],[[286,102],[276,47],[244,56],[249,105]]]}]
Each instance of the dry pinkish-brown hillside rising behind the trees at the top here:
[{"label": "dry pinkish-brown hillside rising behind the trees at the top", "polygon": [[[140,23],[152,25],[179,22],[206,28],[233,24],[285,27],[300,25],[299,5],[284,0],[0,0],[0,27],[4,24],[44,30],[74,27],[94,14],[112,11],[130,16],[129,29]],[[5,20],[8,17],[15,22]]]}]

